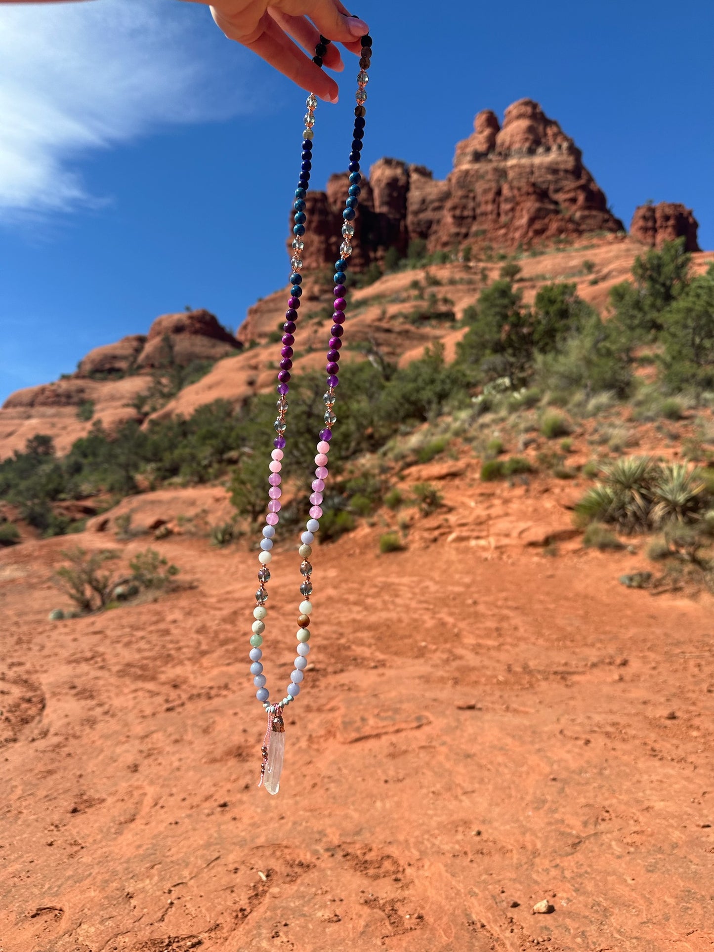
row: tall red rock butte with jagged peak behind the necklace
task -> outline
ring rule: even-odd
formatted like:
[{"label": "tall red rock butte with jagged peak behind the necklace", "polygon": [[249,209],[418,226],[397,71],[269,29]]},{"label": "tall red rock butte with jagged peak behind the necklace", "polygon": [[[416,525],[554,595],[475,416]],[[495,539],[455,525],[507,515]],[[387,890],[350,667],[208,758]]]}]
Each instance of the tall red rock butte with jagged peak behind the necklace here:
[{"label": "tall red rock butte with jagged peak behind the necklace", "polygon": [[[327,191],[308,193],[307,267],[335,260],[346,181],[333,175]],[[424,166],[381,159],[363,183],[360,208],[356,268],[391,246],[406,251],[412,239],[425,240],[429,251],[466,244],[515,248],[624,230],[580,149],[532,99],[509,106],[503,127],[489,109],[479,112],[443,182]]]}]

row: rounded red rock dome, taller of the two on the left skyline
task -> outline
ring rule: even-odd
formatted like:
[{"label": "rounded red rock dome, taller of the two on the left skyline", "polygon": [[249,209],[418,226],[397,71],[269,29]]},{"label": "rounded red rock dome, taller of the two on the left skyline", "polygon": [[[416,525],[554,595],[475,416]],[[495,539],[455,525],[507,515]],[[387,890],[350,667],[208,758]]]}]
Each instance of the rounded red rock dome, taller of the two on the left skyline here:
[{"label": "rounded red rock dome, taller of the two on the left skyline", "polygon": [[172,359],[181,365],[194,360],[218,360],[238,350],[241,344],[208,310],[190,310],[179,314],[157,317],[149,329],[146,347],[136,366],[162,367],[169,359],[167,340]]}]

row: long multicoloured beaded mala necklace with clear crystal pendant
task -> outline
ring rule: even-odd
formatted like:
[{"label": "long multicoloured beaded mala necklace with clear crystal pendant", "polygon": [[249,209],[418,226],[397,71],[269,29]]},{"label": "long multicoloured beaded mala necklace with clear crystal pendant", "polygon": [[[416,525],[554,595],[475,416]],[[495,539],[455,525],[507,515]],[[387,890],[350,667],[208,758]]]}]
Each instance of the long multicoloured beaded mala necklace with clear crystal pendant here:
[{"label": "long multicoloured beaded mala necklace with clear crystal pendant", "polygon": [[[320,37],[320,43],[315,48],[315,55],[312,62],[318,67],[323,65],[323,56],[327,53],[329,44],[324,36]],[[286,322],[283,325],[283,349],[280,351],[281,361],[278,372],[278,417],[275,421],[276,436],[273,440],[274,449],[270,456],[270,475],[268,476],[268,515],[266,516],[266,526],[263,528],[263,538],[260,543],[260,554],[258,561],[261,564],[258,571],[258,590],[255,593],[257,605],[253,609],[252,636],[250,638],[250,674],[253,676],[253,684],[258,688],[256,698],[263,704],[268,713],[268,729],[263,741],[262,754],[263,763],[260,770],[260,783],[263,784],[268,793],[275,794],[280,788],[280,775],[283,771],[283,758],[285,756],[285,721],[283,720],[283,711],[300,694],[300,687],[305,678],[305,668],[307,667],[307,655],[310,646],[310,615],[312,613],[312,603],[309,600],[312,594],[312,565],[309,557],[312,554],[312,543],[315,539],[315,533],[320,528],[320,517],[323,514],[321,503],[323,501],[323,491],[327,480],[327,453],[329,452],[329,441],[332,439],[332,427],[337,421],[334,414],[335,389],[339,384],[337,372],[340,362],[340,347],[342,347],[342,335],[344,333],[343,324],[345,323],[345,300],[347,280],[347,258],[352,253],[352,236],[354,235],[354,225],[352,222],[357,216],[358,196],[360,194],[359,183],[362,179],[360,175],[360,155],[362,152],[362,140],[365,135],[365,102],[367,93],[368,76],[367,69],[372,55],[372,39],[370,36],[362,37],[362,50],[360,55],[360,71],[357,74],[357,92],[355,99],[357,107],[354,110],[354,129],[352,131],[352,150],[349,153],[349,188],[345,210],[342,213],[344,224],[342,226],[342,244],[340,245],[340,258],[335,263],[334,274],[334,313],[332,314],[332,327],[330,327],[329,343],[327,345],[327,391],[323,397],[325,403],[325,426],[320,430],[320,439],[317,444],[317,455],[315,456],[315,479],[312,483],[312,493],[309,497],[310,509],[309,519],[306,524],[306,531],[300,537],[301,545],[298,549],[300,558],[303,560],[300,564],[300,574],[303,576],[303,582],[300,585],[300,594],[304,601],[300,603],[300,614],[298,615],[297,631],[297,657],[294,662],[294,669],[290,674],[290,683],[288,691],[282,701],[274,704],[268,704],[269,692],[266,687],[267,678],[263,673],[263,634],[266,630],[266,616],[268,609],[268,590],[266,585],[270,579],[270,570],[268,564],[272,559],[270,549],[273,546],[275,536],[275,526],[280,521],[280,497],[282,489],[280,488],[282,469],[283,450],[286,446],[286,416],[288,414],[288,381],[290,379],[290,368],[292,367],[293,344],[295,343],[295,330],[297,328],[298,308],[300,307],[300,298],[303,293],[303,276],[300,273],[303,268],[303,259],[301,253],[305,248],[303,236],[305,235],[305,223],[307,216],[306,196],[309,186],[310,169],[312,168],[312,138],[313,126],[315,125],[315,107],[317,106],[317,97],[310,93],[307,96],[307,113],[305,115],[305,129],[303,131],[303,151],[301,155],[302,165],[300,167],[300,178],[298,179],[298,188],[295,189],[295,226],[292,229],[294,238],[292,241],[292,258],[290,259],[290,297],[288,298],[288,310],[286,311]]]}]

